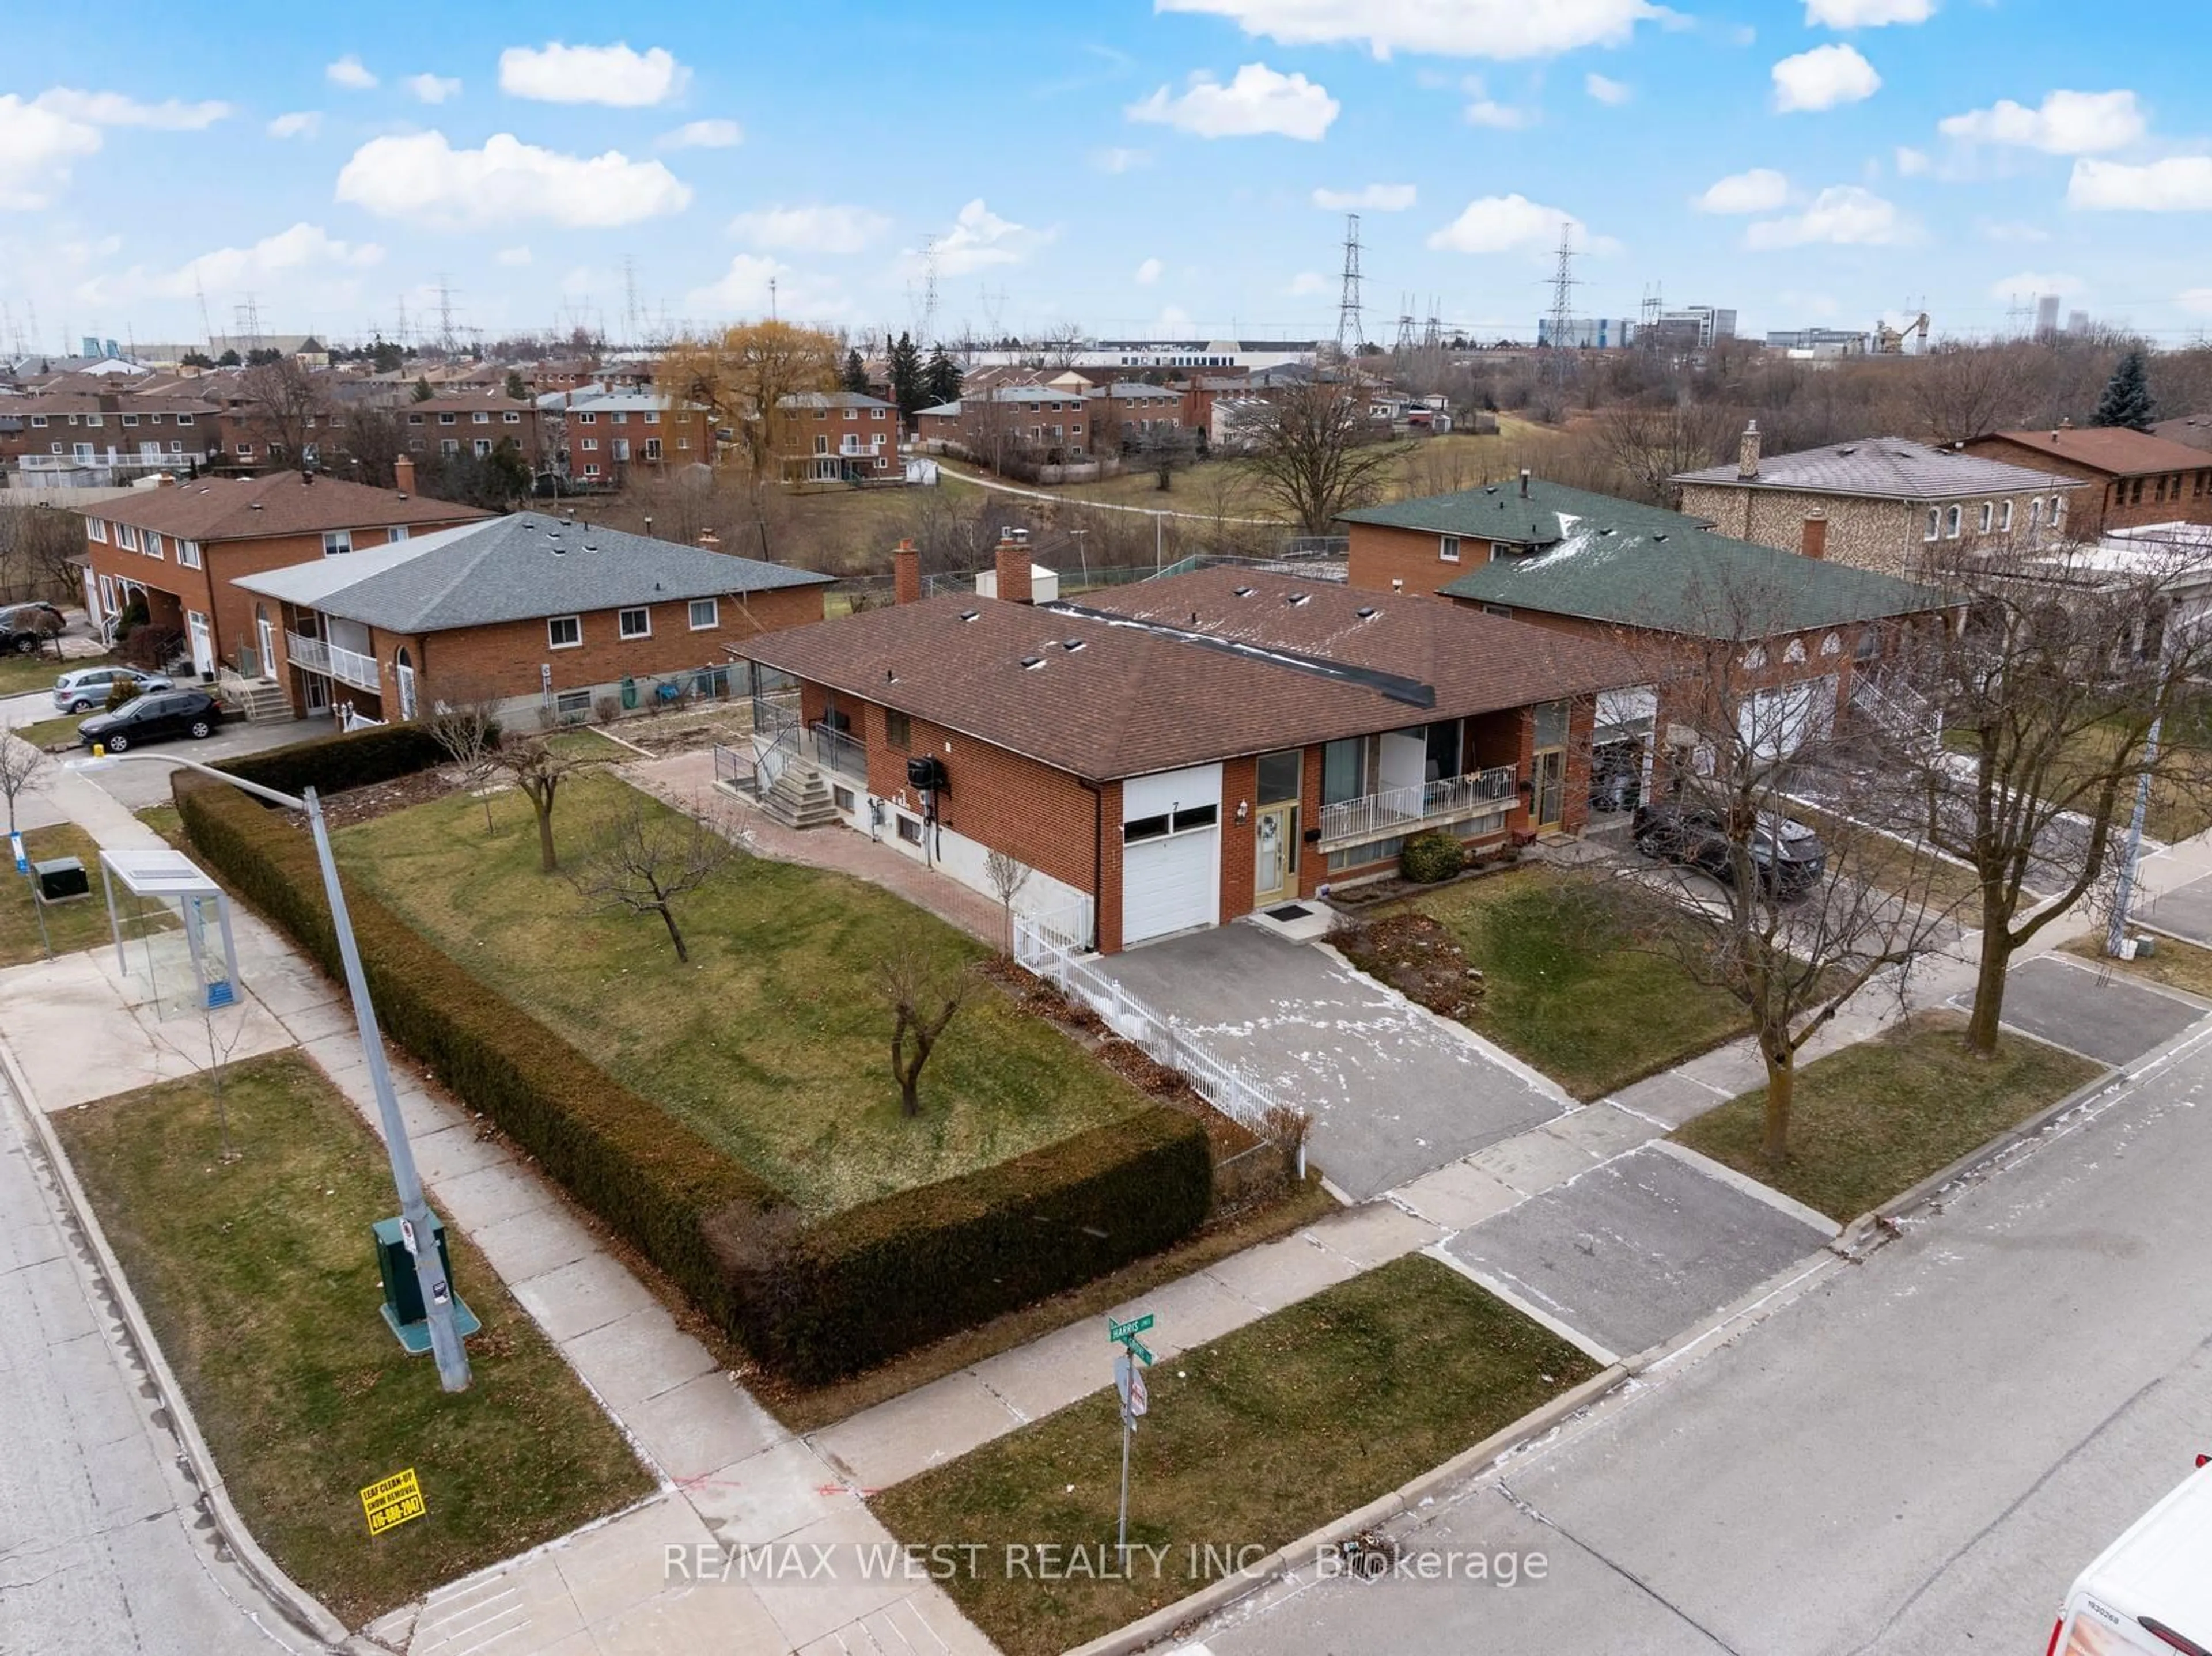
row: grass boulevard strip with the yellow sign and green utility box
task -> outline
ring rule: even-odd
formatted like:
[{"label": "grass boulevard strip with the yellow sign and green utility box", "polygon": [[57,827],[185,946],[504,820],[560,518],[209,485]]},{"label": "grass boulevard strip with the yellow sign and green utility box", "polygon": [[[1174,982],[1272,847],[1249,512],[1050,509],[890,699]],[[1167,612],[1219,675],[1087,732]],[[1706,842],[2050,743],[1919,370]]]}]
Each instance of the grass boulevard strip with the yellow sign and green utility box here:
[{"label": "grass boulevard strip with the yellow sign and green utility box", "polygon": [[[615,1424],[449,1231],[484,1320],[449,1397],[378,1316],[383,1147],[299,1055],[237,1063],[221,1161],[204,1081],[53,1119],[254,1539],[347,1625],[653,1492]],[[414,1468],[425,1517],[369,1537],[361,1488]],[[119,1514],[133,1517],[133,1514]]]}]

